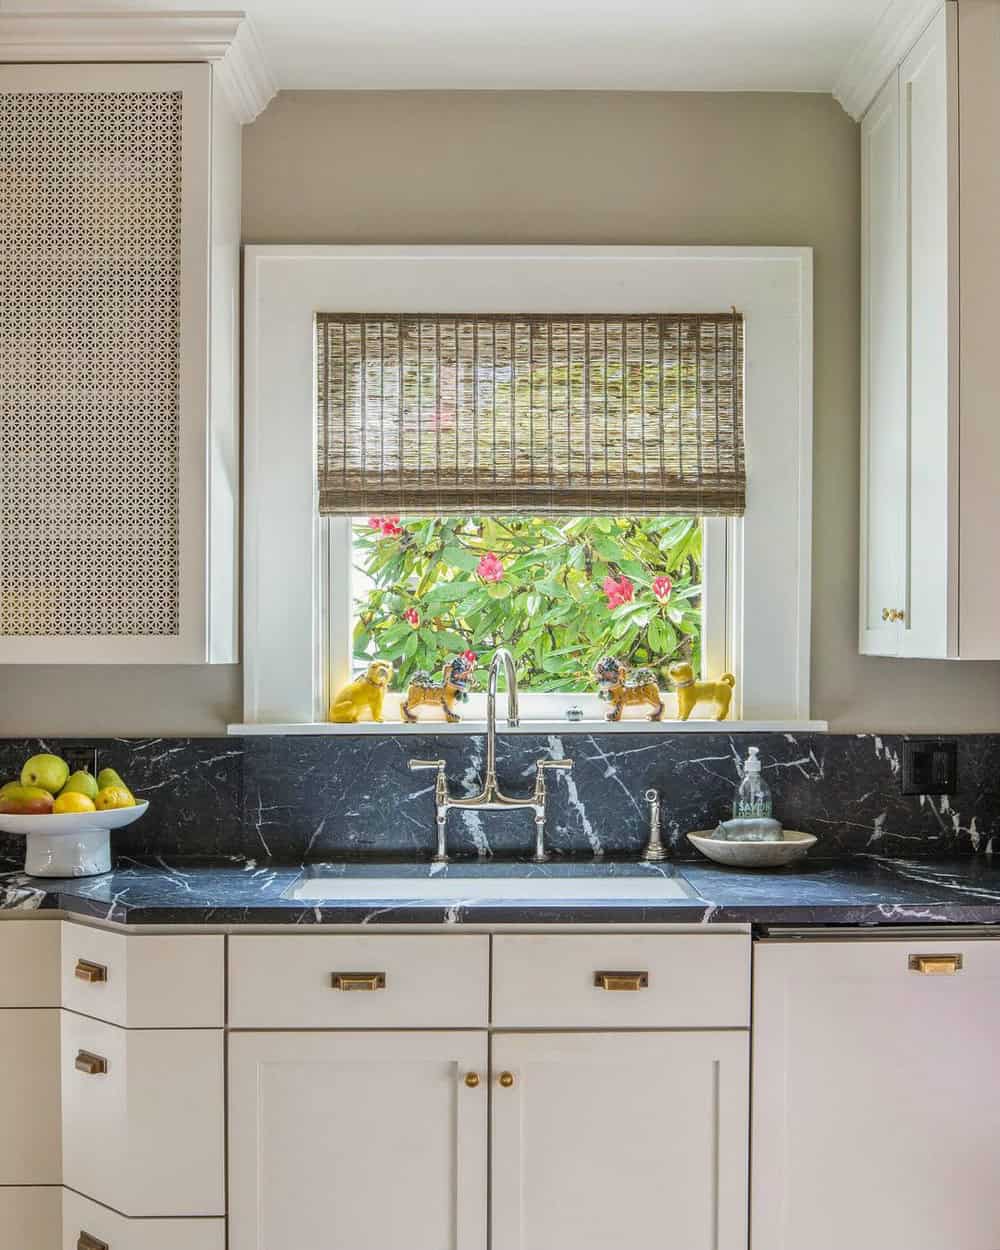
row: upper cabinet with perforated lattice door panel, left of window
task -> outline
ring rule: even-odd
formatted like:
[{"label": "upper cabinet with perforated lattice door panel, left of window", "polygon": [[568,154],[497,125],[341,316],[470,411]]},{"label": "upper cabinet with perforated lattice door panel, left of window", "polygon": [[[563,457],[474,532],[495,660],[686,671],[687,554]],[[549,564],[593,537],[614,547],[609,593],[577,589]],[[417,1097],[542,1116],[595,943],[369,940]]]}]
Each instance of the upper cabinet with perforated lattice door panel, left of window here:
[{"label": "upper cabinet with perforated lattice door panel, left of window", "polygon": [[231,662],[240,122],[219,70],[4,65],[0,118],[0,662]]}]

